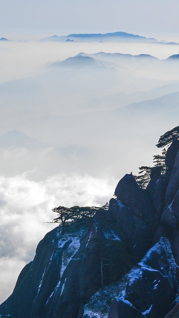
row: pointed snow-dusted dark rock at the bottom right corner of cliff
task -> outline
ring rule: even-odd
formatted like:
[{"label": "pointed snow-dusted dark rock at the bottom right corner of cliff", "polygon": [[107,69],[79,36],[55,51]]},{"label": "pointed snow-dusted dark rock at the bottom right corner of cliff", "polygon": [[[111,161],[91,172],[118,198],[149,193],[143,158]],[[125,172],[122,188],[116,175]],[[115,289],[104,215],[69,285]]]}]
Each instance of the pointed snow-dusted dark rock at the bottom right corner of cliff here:
[{"label": "pointed snow-dusted dark rock at the bottom right corner of cliff", "polygon": [[94,294],[78,318],[163,318],[175,301],[178,271],[168,239],[161,238],[122,280]]}]

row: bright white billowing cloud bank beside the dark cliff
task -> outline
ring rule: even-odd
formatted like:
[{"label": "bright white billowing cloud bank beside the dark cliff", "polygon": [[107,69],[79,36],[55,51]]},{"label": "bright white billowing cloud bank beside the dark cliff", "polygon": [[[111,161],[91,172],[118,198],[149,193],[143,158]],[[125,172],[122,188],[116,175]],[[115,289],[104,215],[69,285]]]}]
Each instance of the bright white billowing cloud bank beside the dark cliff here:
[{"label": "bright white billowing cloud bank beside the dark cliff", "polygon": [[26,176],[0,177],[0,303],[33,259],[38,242],[56,226],[44,223],[56,217],[52,208],[103,205],[113,196],[118,181],[59,174],[35,182]]}]

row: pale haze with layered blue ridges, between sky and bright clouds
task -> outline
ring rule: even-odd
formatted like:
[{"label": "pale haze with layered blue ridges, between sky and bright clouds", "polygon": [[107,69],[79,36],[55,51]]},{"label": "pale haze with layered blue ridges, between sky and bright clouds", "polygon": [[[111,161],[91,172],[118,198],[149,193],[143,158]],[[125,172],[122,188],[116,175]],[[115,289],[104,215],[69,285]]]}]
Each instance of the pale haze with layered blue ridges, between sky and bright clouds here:
[{"label": "pale haze with layered blue ridges, between sky and bright clouds", "polygon": [[[3,174],[40,169],[43,178],[61,170],[101,176],[115,175],[118,169],[121,177],[129,154],[135,157],[149,137],[153,147],[152,135],[177,125],[177,44],[167,46],[164,40],[126,32],[54,36],[36,43],[1,41],[6,43],[0,47]],[[149,118],[156,122],[152,132]],[[14,146],[6,140],[7,133]],[[38,142],[30,147],[23,134]],[[64,150],[57,152],[54,145]],[[15,149],[23,150],[12,165]],[[140,163],[133,161],[131,169],[137,172],[149,157],[152,160],[141,154]]]}]

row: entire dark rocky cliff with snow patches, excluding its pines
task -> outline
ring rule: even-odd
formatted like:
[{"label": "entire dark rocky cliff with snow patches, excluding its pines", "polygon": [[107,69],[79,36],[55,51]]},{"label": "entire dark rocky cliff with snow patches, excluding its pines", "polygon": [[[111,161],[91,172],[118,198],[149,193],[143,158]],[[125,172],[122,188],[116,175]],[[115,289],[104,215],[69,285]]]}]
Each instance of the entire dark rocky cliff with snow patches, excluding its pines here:
[{"label": "entire dark rocky cliff with snow patches, excluding its pines", "polygon": [[47,233],[0,317],[179,317],[179,142],[165,163],[146,189],[126,174],[108,211]]}]

